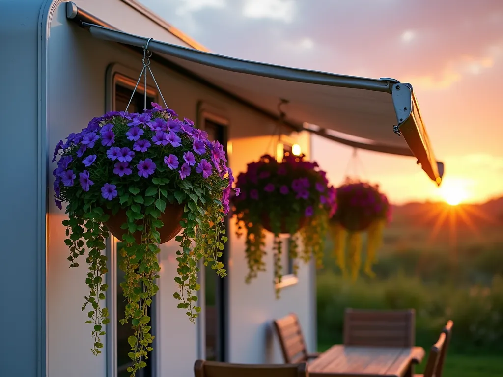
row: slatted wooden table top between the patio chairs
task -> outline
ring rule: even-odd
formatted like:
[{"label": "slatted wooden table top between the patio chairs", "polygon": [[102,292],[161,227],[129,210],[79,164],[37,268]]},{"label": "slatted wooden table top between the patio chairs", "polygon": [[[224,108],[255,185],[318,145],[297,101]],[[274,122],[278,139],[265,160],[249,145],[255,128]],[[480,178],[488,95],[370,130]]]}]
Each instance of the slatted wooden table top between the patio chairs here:
[{"label": "slatted wooden table top between the patio chairs", "polygon": [[361,347],[336,344],[309,363],[309,376],[402,377],[411,362],[425,357],[423,347]]}]

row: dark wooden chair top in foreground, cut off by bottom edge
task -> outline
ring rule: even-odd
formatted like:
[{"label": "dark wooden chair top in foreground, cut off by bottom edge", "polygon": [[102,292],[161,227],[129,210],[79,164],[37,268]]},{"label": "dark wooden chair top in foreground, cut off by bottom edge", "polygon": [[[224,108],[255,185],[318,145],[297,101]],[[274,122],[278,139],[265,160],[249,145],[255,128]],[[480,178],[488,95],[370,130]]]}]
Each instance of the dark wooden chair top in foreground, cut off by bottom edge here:
[{"label": "dark wooden chair top in foreground, cut off by bottom edge", "polygon": [[307,363],[299,364],[230,364],[197,360],[195,377],[309,377]]}]

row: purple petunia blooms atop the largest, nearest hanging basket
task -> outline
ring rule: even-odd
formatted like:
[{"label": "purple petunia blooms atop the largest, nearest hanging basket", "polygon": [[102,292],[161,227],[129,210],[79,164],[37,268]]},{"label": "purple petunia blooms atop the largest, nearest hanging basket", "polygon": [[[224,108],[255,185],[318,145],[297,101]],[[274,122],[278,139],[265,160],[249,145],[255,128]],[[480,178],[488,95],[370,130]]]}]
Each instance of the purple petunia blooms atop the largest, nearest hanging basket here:
[{"label": "purple petunia blooms atop the largest, nearest hanging basket", "polygon": [[66,142],[57,143],[52,162],[61,156],[53,171],[55,202],[60,209],[62,199],[77,193],[69,189],[77,177],[82,191],[93,192],[96,182],[101,196],[111,201],[118,196],[117,183],[125,182],[133,172],[149,178],[162,176],[167,168],[182,180],[228,179],[221,202],[224,212],[229,211],[234,178],[226,166],[223,146],[208,140],[208,134],[189,119],[175,118],[178,115],[173,110],[155,103],[152,107],[141,114],[108,112],[93,118],[80,132],[71,133]]}]

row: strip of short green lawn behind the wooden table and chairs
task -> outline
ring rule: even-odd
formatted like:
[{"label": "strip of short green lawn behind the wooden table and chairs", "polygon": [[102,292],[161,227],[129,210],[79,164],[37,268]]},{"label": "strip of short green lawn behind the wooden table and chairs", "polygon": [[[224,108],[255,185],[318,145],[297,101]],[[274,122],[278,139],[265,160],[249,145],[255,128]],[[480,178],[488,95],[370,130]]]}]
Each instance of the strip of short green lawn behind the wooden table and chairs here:
[{"label": "strip of short green lawn behind the wooden table and chairs", "polygon": [[[331,344],[318,344],[318,352],[326,351]],[[428,351],[423,363],[414,368],[415,373],[423,373]],[[448,352],[443,377],[502,377],[502,356],[462,355]]]}]

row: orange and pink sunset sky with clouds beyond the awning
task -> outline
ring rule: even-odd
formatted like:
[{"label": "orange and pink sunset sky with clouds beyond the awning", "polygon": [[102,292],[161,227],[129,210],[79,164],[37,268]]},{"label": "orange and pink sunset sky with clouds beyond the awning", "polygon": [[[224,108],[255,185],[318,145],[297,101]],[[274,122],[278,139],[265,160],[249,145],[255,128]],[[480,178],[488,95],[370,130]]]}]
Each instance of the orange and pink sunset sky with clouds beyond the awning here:
[{"label": "orange and pink sunset sky with clouds beyond the awning", "polygon": [[[360,151],[360,178],[394,203],[503,195],[503,1],[141,0],[212,52],[412,84],[441,189],[412,158]],[[316,137],[333,184],[352,150]]]}]

